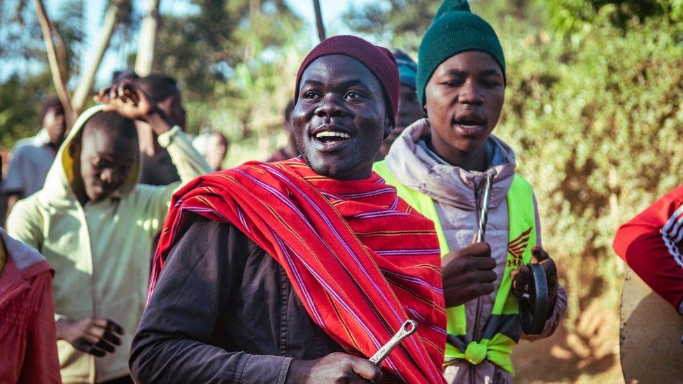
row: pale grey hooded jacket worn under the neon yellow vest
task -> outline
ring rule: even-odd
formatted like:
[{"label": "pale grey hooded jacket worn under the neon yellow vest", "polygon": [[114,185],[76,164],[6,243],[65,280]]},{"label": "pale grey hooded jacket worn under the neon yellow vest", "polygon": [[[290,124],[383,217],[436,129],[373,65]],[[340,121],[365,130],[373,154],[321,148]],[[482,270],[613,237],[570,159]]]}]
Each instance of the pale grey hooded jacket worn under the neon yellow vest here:
[{"label": "pale grey hooded jacket worn under the neon yellow vest", "polygon": [[[405,129],[391,146],[385,158],[386,166],[403,185],[422,192],[435,201],[439,220],[444,229],[449,249],[464,248],[472,243],[477,233],[477,201],[474,198],[475,186],[483,186],[485,173],[467,171],[458,166],[446,164],[432,153],[421,138],[428,135],[428,119],[418,120]],[[481,335],[491,315],[495,295],[505,271],[507,259],[509,220],[507,211],[507,191],[512,184],[515,171],[515,157],[512,148],[500,138],[491,136],[487,143],[490,167],[486,170],[493,176],[491,203],[486,225],[486,243],[491,246],[491,256],[496,260],[494,269],[498,274],[495,290],[488,296],[480,297],[465,304],[467,315],[467,336]],[[534,199],[534,204],[536,201]],[[541,227],[536,213],[536,239],[541,244]],[[526,339],[540,339],[550,336],[558,326],[567,308],[567,295],[563,287],[558,289],[554,313],[546,322],[540,336],[523,336]],[[448,364],[451,363],[451,364]],[[451,383],[507,383],[512,376],[488,360],[471,365],[465,360],[446,361],[446,378]]]}]

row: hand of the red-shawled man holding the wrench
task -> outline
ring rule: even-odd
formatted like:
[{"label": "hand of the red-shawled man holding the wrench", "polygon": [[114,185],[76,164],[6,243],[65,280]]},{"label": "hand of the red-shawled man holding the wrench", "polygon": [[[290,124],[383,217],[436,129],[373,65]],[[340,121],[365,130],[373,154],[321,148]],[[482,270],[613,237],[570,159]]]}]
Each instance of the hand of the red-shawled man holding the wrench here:
[{"label": "hand of the red-shawled man holding the wrench", "polygon": [[330,353],[318,360],[293,360],[287,383],[381,383],[382,371],[367,359]]}]

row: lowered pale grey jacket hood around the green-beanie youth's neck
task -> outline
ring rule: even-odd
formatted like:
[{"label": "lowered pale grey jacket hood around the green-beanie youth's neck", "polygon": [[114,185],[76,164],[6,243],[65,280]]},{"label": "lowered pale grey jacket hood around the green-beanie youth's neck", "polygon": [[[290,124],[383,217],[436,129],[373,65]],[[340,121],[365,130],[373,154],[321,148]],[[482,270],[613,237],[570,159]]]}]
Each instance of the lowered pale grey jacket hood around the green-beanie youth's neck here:
[{"label": "lowered pale grey jacket hood around the green-beanie youth's neck", "polygon": [[396,138],[385,158],[392,173],[407,187],[467,211],[477,209],[474,191],[481,190],[485,173],[491,173],[493,185],[490,207],[499,206],[505,200],[514,176],[516,162],[512,148],[491,135],[489,140],[493,141],[495,150],[502,155],[502,164],[493,164],[485,172],[467,171],[439,162],[418,144],[418,141],[428,136],[430,130],[429,120],[424,118],[407,127]]}]

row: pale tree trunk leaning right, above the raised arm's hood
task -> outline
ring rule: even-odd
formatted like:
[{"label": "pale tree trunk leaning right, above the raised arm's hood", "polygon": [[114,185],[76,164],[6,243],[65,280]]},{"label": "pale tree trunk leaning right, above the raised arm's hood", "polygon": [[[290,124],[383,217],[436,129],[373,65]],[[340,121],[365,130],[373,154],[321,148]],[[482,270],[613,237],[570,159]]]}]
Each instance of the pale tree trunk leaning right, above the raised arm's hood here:
[{"label": "pale tree trunk leaning right, above the raised arm's hood", "polygon": [[94,59],[89,66],[85,66],[83,69],[83,75],[80,76],[78,86],[76,87],[76,91],[73,92],[73,98],[71,99],[71,108],[73,108],[73,111],[77,114],[83,111],[83,108],[92,93],[92,86],[95,82],[97,69],[99,69],[99,64],[102,62],[104,52],[106,52],[109,41],[111,41],[111,35],[114,33],[121,7],[122,1],[113,1],[104,14],[104,22],[100,29],[101,35],[99,36],[99,41],[95,48]]}]

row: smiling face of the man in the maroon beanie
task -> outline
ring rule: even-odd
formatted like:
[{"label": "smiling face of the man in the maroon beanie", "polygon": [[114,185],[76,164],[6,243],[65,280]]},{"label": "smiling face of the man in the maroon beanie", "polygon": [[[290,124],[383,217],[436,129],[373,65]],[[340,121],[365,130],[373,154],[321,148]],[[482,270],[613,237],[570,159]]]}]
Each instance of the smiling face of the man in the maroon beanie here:
[{"label": "smiling face of the man in the maroon beanie", "polygon": [[292,115],[297,146],[316,173],[368,178],[392,127],[379,80],[344,55],[316,59],[302,74]]}]

